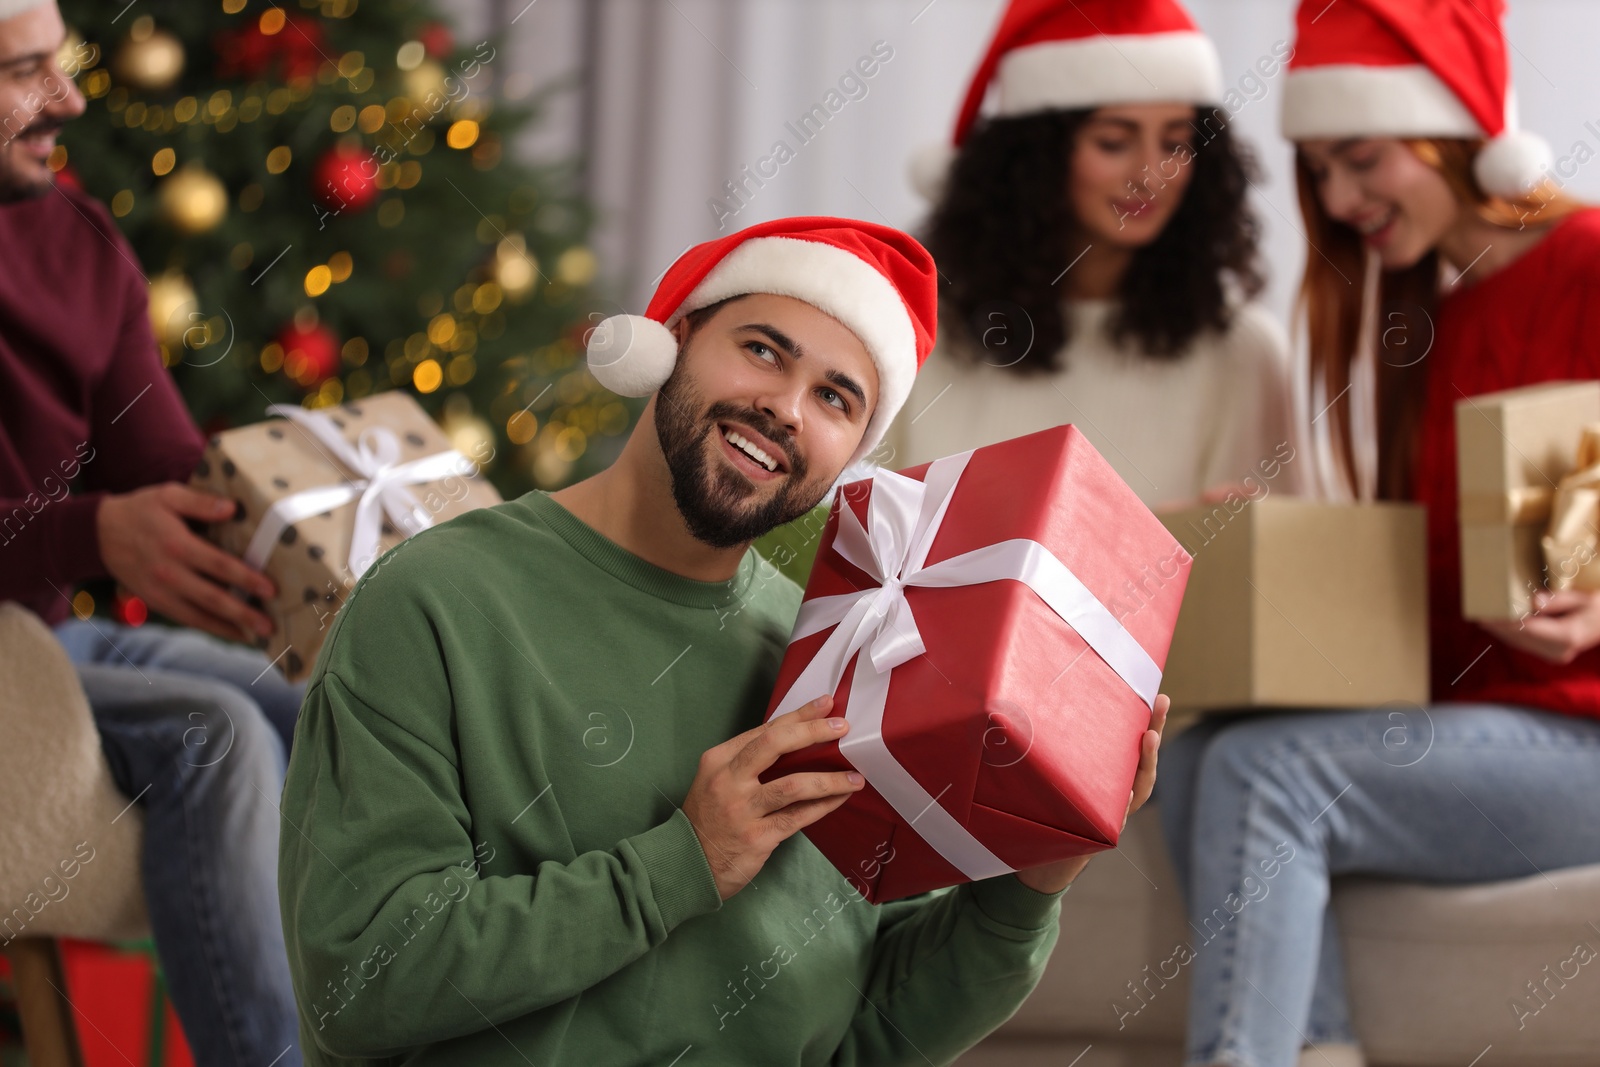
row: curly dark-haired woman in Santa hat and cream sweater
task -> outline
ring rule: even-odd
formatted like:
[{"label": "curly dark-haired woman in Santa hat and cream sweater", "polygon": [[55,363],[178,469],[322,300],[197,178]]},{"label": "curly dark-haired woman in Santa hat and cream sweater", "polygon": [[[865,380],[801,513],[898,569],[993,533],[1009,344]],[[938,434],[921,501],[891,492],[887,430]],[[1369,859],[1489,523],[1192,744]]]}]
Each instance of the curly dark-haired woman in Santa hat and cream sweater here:
[{"label": "curly dark-haired woman in Santa hat and cream sweater", "polygon": [[1176,0],[1008,6],[954,160],[918,176],[942,338],[896,466],[1074,422],[1152,504],[1285,470],[1286,344],[1248,302],[1254,160],[1221,101]]}]

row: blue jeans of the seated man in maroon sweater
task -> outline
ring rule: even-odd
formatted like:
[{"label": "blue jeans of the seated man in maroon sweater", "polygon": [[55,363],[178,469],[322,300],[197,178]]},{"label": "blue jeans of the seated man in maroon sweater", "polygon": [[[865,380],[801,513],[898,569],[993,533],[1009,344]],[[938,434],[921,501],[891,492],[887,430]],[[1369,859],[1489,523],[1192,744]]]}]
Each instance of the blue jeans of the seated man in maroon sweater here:
[{"label": "blue jeans of the seated man in maroon sweater", "polygon": [[144,896],[200,1067],[298,1067],[278,797],[302,685],[195,630],[69,619],[117,787],[144,809]]}]

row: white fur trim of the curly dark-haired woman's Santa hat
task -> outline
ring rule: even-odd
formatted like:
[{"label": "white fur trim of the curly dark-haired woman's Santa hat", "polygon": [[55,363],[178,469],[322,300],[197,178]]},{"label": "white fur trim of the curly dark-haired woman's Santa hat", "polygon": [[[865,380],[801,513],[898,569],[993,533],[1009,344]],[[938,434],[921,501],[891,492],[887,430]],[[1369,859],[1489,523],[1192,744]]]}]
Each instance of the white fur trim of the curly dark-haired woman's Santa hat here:
[{"label": "white fur trim of the curly dark-haired woman's Santa hat", "polygon": [[1000,115],[1162,101],[1221,104],[1222,64],[1205,34],[1126,34],[1014,48],[995,75]]}]

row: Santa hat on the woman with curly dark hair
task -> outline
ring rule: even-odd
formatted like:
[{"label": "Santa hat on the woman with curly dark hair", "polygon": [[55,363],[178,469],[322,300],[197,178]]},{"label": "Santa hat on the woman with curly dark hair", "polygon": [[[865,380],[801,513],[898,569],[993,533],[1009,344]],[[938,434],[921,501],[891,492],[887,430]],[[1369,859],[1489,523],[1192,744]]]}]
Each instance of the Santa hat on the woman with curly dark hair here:
[{"label": "Santa hat on the woman with curly dark hair", "polygon": [[912,160],[912,184],[942,190],[955,150],[997,90],[995,115],[1222,99],[1216,46],[1178,0],[1011,0],[966,90],[950,144]]}]

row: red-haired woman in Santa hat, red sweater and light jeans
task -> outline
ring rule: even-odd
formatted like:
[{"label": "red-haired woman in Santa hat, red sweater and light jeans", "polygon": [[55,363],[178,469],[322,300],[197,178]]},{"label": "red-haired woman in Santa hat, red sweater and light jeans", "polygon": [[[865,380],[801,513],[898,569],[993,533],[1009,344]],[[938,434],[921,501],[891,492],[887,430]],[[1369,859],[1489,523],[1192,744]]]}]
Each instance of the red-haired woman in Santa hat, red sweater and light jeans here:
[{"label": "red-haired woman in Santa hat, red sweater and light jeans", "polygon": [[[1600,211],[1541,179],[1542,142],[1515,131],[1502,8],[1299,10],[1283,131],[1312,245],[1310,408],[1342,494],[1427,507],[1434,704],[1402,726],[1421,758],[1373,745],[1349,712],[1202,723],[1163,752],[1190,921],[1250,901],[1190,965],[1192,1067],[1362,1062],[1330,878],[1600,862],[1600,597],[1541,593],[1522,622],[1461,614],[1456,402],[1600,376]],[[1270,894],[1253,891],[1259,864]],[[1507,1041],[1520,1022],[1506,1014]]]}]

